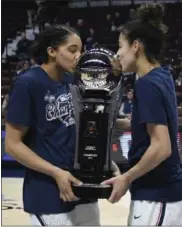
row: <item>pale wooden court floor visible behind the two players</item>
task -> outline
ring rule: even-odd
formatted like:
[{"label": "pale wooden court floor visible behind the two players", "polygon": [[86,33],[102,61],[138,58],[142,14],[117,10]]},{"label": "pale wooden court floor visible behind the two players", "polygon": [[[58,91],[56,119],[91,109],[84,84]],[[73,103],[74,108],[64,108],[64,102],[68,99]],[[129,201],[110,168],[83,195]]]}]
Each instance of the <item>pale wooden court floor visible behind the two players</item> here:
[{"label": "pale wooden court floor visible behind the two players", "polygon": [[[28,214],[22,210],[22,183],[21,178],[2,179],[2,225],[30,225]],[[129,202],[129,193],[116,204],[100,200],[101,224],[126,225]]]}]

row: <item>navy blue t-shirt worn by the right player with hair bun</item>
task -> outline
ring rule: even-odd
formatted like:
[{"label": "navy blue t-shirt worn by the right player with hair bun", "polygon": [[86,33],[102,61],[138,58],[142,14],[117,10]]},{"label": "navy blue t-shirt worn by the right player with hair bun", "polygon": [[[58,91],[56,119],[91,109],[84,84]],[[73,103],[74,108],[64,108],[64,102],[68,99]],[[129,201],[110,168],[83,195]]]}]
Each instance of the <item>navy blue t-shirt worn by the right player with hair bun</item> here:
[{"label": "navy blue t-shirt worn by the right player with hair bun", "polygon": [[155,169],[131,185],[132,200],[182,200],[182,169],[177,147],[178,116],[175,87],[170,72],[162,67],[151,70],[135,84],[132,110],[130,167],[136,165],[150,146],[147,123],[166,125],[172,154]]}]

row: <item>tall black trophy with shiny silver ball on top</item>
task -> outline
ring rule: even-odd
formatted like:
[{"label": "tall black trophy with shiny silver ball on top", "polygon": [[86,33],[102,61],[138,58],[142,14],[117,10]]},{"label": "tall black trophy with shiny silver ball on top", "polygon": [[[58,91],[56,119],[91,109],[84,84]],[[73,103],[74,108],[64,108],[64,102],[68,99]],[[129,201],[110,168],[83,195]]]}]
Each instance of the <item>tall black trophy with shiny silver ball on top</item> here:
[{"label": "tall black trophy with shiny silver ball on top", "polygon": [[83,182],[72,185],[78,198],[108,198],[113,177],[112,129],[121,105],[121,81],[114,75],[115,54],[104,48],[86,51],[77,66],[79,81],[70,85],[76,121],[76,150],[72,174]]}]

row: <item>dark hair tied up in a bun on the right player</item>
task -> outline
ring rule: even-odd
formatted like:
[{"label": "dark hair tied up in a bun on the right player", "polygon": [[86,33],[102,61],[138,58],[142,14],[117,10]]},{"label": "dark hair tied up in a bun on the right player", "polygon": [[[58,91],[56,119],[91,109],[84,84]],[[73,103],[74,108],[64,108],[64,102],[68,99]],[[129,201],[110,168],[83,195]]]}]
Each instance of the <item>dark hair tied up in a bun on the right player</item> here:
[{"label": "dark hair tied up in a bun on the right player", "polygon": [[138,18],[126,23],[121,30],[130,44],[139,40],[149,62],[161,60],[167,26],[163,23],[164,7],[159,3],[142,4],[137,10]]}]

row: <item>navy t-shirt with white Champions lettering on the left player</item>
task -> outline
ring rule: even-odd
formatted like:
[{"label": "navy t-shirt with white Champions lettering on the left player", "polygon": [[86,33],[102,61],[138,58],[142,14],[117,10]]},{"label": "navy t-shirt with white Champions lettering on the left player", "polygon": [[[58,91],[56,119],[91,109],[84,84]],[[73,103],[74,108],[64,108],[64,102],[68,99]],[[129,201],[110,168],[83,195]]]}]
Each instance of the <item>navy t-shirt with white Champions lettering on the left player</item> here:
[{"label": "navy t-shirt with white Champions lettering on the left player", "polygon": [[[24,142],[41,158],[71,170],[75,153],[75,119],[68,76],[62,82],[49,78],[40,67],[21,75],[9,99],[7,121],[29,131]],[[63,202],[50,176],[26,169],[24,210],[32,214],[64,213],[89,200]]]}]

